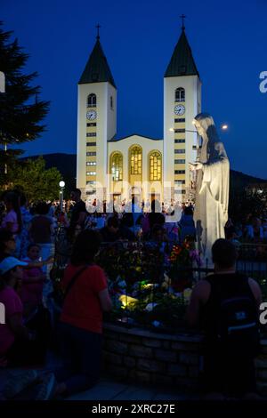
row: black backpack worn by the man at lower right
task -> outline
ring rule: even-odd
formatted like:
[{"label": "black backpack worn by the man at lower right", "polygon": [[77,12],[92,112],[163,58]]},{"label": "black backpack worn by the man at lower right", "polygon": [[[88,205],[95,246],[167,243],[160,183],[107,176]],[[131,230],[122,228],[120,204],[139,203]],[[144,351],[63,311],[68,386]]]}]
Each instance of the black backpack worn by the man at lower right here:
[{"label": "black backpack worn by the man at lower right", "polygon": [[[232,279],[235,280],[235,277]],[[223,295],[222,287],[215,285],[216,278],[212,281],[208,279],[217,304],[214,316],[215,338],[228,356],[246,353],[249,357],[255,357],[260,348],[260,328],[255,298],[247,277],[239,276],[238,279],[240,283],[242,280],[247,281],[247,285],[243,282],[243,292],[240,292],[239,296],[232,297]]]}]

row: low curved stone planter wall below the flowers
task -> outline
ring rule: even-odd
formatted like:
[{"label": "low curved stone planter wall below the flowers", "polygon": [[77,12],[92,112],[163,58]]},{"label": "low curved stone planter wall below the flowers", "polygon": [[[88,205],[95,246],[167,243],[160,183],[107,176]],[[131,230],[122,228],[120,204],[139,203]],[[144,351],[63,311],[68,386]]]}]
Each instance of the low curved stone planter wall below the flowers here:
[{"label": "low curved stone planter wall below the flowers", "polygon": [[[158,334],[140,328],[106,324],[103,333],[105,371],[128,382],[198,389],[201,337]],[[256,359],[258,389],[267,394],[267,340]]]}]

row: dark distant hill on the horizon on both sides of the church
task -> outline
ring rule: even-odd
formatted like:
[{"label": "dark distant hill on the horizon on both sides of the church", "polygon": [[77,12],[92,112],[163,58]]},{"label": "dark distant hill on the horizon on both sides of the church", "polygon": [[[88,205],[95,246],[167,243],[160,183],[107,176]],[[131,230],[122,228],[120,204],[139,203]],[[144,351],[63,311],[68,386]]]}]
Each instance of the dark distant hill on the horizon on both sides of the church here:
[{"label": "dark distant hill on the horizon on both sides of the church", "polygon": [[[34,157],[23,157],[27,158],[37,158]],[[62,174],[62,179],[66,182],[68,189],[73,189],[76,185],[76,167],[77,167],[77,156],[76,154],[44,154],[43,155],[46,168],[56,167]],[[267,180],[263,180],[251,175],[244,173],[236,172],[231,170],[230,174],[231,189],[243,189],[246,188],[249,184],[254,183],[266,183]]]}]

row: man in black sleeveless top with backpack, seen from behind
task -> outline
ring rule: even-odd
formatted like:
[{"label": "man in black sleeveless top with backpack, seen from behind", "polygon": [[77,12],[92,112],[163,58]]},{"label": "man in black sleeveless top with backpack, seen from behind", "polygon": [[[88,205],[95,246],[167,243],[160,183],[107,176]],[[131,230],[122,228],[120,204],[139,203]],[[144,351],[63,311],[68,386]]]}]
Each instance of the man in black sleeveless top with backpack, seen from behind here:
[{"label": "man in black sleeveless top with backpack, seen from behind", "polygon": [[230,241],[217,239],[212,256],[214,274],[194,287],[187,312],[190,326],[204,331],[204,390],[207,398],[253,398],[261,289],[236,271],[237,253]]}]

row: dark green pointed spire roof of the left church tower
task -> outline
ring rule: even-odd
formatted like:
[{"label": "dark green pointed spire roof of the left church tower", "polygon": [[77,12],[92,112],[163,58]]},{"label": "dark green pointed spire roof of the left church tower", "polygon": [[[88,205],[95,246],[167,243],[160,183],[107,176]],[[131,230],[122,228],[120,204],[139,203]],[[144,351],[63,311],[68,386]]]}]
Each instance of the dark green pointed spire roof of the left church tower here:
[{"label": "dark green pointed spire roof of the left church tower", "polygon": [[116,84],[109,69],[108,61],[101,47],[99,36],[97,36],[93,51],[87,61],[78,84],[101,83],[105,81],[109,82],[116,88]]}]

